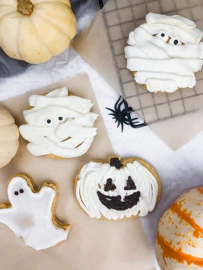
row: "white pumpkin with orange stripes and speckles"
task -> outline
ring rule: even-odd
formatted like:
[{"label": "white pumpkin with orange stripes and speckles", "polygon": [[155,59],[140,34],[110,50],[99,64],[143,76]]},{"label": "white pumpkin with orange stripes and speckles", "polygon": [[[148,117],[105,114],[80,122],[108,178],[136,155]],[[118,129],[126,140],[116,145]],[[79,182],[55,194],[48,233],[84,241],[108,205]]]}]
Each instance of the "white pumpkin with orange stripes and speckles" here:
[{"label": "white pumpkin with orange stripes and speckles", "polygon": [[155,253],[161,270],[203,269],[203,186],[187,191],[165,211]]}]

